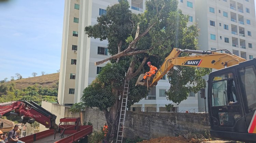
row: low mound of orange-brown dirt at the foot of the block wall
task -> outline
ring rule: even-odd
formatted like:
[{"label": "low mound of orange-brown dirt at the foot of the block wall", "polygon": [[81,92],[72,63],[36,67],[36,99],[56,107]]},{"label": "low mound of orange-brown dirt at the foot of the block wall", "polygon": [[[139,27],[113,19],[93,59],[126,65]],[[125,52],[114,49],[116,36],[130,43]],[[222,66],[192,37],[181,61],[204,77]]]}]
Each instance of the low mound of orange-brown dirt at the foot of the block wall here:
[{"label": "low mound of orange-brown dirt at the foot of the block wall", "polygon": [[150,140],[143,140],[138,143],[188,143],[189,140],[185,139],[182,136],[179,137],[159,137]]}]

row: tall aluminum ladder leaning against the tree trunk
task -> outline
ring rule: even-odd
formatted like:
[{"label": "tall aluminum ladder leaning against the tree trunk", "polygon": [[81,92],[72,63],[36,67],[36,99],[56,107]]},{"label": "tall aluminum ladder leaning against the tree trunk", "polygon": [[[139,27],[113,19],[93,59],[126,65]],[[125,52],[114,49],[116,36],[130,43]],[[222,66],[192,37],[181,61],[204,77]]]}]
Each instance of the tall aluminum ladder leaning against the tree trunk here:
[{"label": "tall aluminum ladder leaning against the tree trunk", "polygon": [[128,81],[128,83],[127,83],[127,81],[125,81],[116,143],[122,143],[123,142],[123,131],[124,131],[125,113],[126,113],[126,106],[127,106],[127,99],[128,99],[128,89],[129,89],[129,81]]}]

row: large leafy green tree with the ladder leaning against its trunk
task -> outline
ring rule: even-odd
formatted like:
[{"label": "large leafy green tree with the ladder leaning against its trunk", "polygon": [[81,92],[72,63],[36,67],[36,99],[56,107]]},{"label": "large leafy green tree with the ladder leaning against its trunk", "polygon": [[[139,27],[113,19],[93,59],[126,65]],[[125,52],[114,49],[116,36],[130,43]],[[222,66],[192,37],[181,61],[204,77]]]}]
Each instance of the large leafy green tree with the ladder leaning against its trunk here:
[{"label": "large leafy green tree with the ladder leaning against its trunk", "polygon": [[[178,3],[177,0],[148,0],[143,14],[133,14],[129,10],[129,3],[120,0],[106,8],[106,14],[97,18],[97,24],[85,27],[88,37],[108,40],[108,52],[111,55],[95,63],[99,65],[108,60],[111,62],[102,67],[96,79],[84,89],[82,96],[85,106],[98,107],[104,112],[109,126],[106,141],[116,139],[124,82],[129,81],[127,106],[130,107],[148,93],[146,87],[134,86],[138,74],[149,70],[145,65],[147,61],[151,61],[152,65],[161,65],[174,47],[197,49],[197,25],[187,26],[188,16],[177,9]],[[139,34],[137,38],[133,38],[137,25]],[[187,83],[198,85],[197,88],[205,85],[198,74],[206,74],[207,70],[201,68],[197,72],[196,68],[191,67],[176,68],[172,75],[183,75],[183,78],[187,78],[186,83],[177,77],[176,83],[170,86],[173,91],[167,95],[169,100],[179,103],[186,99],[190,91],[197,90],[193,86],[186,86]],[[177,95],[173,94],[179,89],[174,87],[186,90],[176,98]]]}]

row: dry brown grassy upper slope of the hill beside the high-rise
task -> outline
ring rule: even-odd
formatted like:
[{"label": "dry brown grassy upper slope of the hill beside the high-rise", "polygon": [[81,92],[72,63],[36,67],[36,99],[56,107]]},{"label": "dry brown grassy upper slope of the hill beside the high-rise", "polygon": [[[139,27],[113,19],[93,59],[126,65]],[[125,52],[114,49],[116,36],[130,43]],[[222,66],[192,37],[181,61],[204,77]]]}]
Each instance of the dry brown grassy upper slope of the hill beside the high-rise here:
[{"label": "dry brown grassy upper slope of the hill beside the high-rise", "polygon": [[7,82],[14,83],[16,89],[23,89],[28,86],[38,84],[41,87],[54,88],[59,82],[59,73],[46,74],[42,76],[35,76],[29,78],[22,78],[15,81]]}]

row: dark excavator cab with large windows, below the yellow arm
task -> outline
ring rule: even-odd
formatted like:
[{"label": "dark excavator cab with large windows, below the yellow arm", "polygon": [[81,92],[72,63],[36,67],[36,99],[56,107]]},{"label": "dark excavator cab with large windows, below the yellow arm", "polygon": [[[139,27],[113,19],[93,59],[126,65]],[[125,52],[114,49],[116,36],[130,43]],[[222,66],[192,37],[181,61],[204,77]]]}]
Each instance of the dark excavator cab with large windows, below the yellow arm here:
[{"label": "dark excavator cab with large windows, below the yellow arm", "polygon": [[212,137],[256,141],[256,59],[209,74],[208,108]]}]

